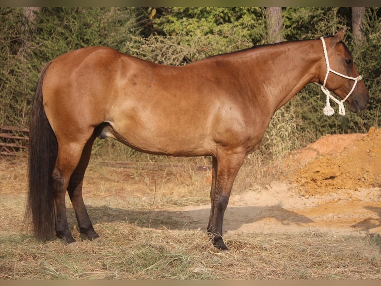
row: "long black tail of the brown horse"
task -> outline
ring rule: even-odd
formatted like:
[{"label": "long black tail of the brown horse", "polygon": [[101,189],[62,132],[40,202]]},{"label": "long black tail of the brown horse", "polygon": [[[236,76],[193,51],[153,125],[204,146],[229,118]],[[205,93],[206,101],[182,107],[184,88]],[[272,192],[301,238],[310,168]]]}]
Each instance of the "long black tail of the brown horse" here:
[{"label": "long black tail of the brown horse", "polygon": [[58,153],[57,139],[46,117],[42,100],[42,83],[50,63],[43,68],[33,99],[29,125],[28,196],[25,219],[34,234],[50,239],[54,234],[52,172]]}]

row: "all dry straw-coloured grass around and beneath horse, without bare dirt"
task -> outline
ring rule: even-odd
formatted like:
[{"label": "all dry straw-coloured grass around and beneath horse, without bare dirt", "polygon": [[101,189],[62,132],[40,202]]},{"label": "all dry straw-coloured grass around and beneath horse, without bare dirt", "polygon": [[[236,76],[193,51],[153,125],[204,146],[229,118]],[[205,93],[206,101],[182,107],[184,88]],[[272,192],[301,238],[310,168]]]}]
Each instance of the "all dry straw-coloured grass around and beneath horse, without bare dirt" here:
[{"label": "all dry straw-coloured grass around and beneath horse, without bare dirt", "polygon": [[[197,171],[208,162],[198,160],[92,162],[84,194],[101,239],[81,240],[68,203],[78,243],[66,246],[25,230],[25,160],[2,159],[0,279],[381,279],[380,236],[232,234],[228,251],[215,249],[204,229],[177,215],[179,207],[208,203],[208,172]],[[236,191],[252,173],[243,167]]]}]

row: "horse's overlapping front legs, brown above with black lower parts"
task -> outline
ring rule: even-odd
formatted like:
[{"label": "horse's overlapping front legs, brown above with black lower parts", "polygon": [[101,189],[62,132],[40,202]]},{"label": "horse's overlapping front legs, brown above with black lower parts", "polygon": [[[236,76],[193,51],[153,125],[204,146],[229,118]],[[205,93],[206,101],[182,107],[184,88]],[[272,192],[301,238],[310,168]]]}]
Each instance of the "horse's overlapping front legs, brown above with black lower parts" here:
[{"label": "horse's overlapping front legs, brown above with black lower parts", "polygon": [[[210,191],[211,209],[207,231],[213,235],[213,245],[222,250],[227,247],[222,239],[222,223],[230,192],[237,173],[242,166],[246,153],[220,152],[213,158],[212,189]],[[215,180],[215,183],[213,183]]]}]

